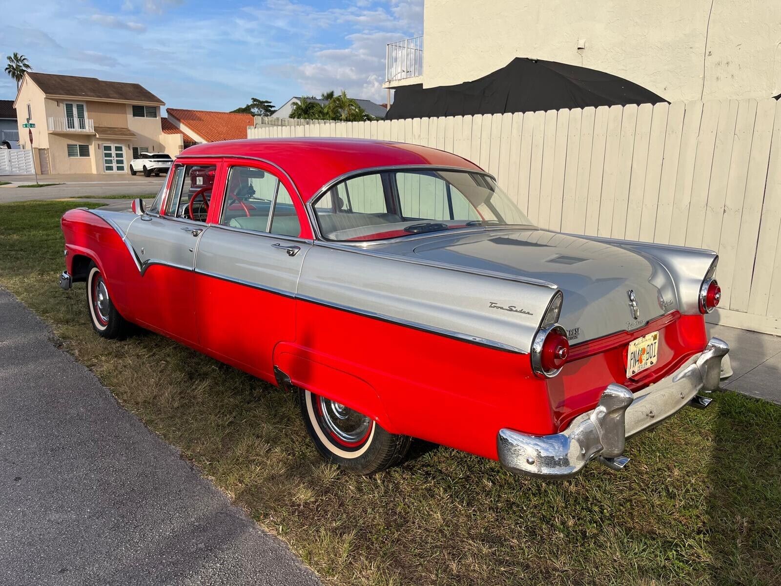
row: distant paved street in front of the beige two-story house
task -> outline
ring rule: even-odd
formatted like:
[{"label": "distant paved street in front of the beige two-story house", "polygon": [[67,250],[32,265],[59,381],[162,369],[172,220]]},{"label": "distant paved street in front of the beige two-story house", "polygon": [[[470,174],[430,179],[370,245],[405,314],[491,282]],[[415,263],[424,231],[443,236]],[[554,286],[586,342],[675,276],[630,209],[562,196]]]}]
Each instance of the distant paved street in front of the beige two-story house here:
[{"label": "distant paved street in front of the beige two-story house", "polygon": [[[90,179],[92,177],[93,179]],[[13,181],[14,184],[33,184],[33,177],[24,176],[0,176],[0,180]],[[0,203],[3,202],[27,202],[32,199],[60,199],[77,198],[84,195],[105,196],[105,195],[130,195],[148,196],[155,195],[166,176],[161,177],[143,177],[130,175],[119,175],[110,177],[106,175],[42,175],[38,177],[41,183],[60,183],[48,188],[16,188],[9,186],[0,186]]]}]

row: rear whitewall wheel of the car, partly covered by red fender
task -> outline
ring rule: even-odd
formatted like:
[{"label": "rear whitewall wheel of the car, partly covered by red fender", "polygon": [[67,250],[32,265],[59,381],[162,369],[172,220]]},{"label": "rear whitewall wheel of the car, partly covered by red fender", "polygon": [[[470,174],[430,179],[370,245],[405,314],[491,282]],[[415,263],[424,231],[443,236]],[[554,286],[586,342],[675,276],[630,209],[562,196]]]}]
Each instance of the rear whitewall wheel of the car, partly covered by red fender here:
[{"label": "rear whitewall wheel of the car, partly covered by red fender", "polygon": [[356,474],[373,474],[395,466],[407,454],[412,438],[385,431],[354,409],[298,390],[301,416],[318,451],[330,462]]}]

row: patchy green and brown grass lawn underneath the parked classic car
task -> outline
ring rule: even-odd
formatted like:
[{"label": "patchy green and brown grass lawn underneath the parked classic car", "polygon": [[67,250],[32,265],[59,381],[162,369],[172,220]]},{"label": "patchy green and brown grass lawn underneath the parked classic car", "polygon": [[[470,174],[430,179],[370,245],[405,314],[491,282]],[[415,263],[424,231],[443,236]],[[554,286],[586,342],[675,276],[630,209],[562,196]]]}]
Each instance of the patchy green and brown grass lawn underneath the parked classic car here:
[{"label": "patchy green and brown grass lawn underneath the parked classic car", "polygon": [[781,407],[719,393],[630,440],[621,473],[538,481],[419,444],[351,477],[319,459],[292,395],[155,334],[93,334],[84,284],[56,284],[59,216],[79,205],[0,205],[0,283],[327,583],[781,584]]}]

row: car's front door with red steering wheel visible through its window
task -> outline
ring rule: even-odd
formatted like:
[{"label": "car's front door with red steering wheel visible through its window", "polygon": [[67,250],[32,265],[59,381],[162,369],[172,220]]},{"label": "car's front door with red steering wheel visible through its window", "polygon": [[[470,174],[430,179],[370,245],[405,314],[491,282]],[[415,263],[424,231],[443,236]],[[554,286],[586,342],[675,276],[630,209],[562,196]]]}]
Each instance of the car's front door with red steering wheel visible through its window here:
[{"label": "car's front door with red steering wheel visible through its window", "polygon": [[142,325],[189,345],[198,345],[198,313],[203,307],[194,288],[195,253],[208,229],[219,161],[188,160],[170,173],[161,209],[151,209],[130,224],[127,240],[141,266]]}]

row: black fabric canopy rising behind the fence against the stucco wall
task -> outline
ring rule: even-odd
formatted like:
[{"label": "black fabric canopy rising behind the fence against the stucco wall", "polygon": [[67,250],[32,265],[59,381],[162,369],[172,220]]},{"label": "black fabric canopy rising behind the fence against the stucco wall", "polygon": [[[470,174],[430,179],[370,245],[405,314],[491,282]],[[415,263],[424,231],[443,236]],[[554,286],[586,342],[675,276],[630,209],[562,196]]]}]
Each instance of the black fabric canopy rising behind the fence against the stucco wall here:
[{"label": "black fabric canopy rising behind the fence against the stucco wall", "polygon": [[658,102],[666,100],[610,73],[516,57],[501,70],[464,84],[397,88],[385,120]]}]

